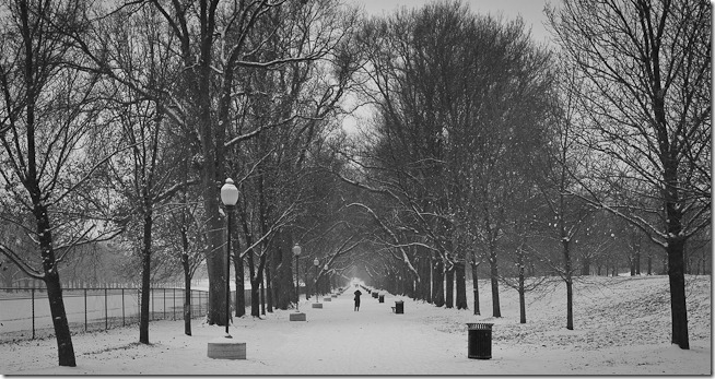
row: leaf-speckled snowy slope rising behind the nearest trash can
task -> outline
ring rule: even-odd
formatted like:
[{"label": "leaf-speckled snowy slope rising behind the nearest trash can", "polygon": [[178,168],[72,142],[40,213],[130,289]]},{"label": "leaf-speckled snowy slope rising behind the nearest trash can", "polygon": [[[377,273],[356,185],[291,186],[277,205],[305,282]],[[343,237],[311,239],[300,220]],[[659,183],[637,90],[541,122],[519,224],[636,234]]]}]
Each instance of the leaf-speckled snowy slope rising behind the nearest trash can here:
[{"label": "leaf-speckled snowy slope rising behind the nearest trash can", "polygon": [[[689,275],[687,281],[690,340],[711,339],[711,277]],[[473,305],[471,283],[468,301]],[[670,294],[667,276],[586,276],[574,283],[574,330],[566,325],[566,288],[554,281],[526,294],[527,323],[519,324],[518,293],[501,287],[502,318],[492,315],[491,289],[480,281],[481,316],[469,311],[438,315],[431,320],[448,331],[464,330],[474,318],[495,323],[494,340],[509,343],[598,350],[603,346],[670,342]],[[465,315],[462,315],[465,313]]]}]

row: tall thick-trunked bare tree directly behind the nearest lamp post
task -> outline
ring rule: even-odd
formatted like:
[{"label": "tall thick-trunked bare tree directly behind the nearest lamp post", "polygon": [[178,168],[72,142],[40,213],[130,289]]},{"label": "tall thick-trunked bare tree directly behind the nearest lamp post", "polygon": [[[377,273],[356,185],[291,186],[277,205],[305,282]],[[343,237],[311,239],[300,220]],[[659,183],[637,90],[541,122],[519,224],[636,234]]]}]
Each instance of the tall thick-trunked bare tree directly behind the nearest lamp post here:
[{"label": "tall thick-trunked bare tree directly behind the nearest lamp post", "polygon": [[[282,64],[310,61],[323,58],[339,40],[345,29],[335,28],[331,23],[303,23],[315,16],[305,9],[330,8],[332,0],[286,2],[257,0],[220,2],[198,0],[195,2],[173,1],[171,3],[150,1],[148,5],[161,15],[157,28],[165,31],[161,43],[155,46],[171,47],[172,56],[165,63],[177,67],[178,76],[173,86],[156,87],[150,78],[138,75],[131,70],[131,62],[116,55],[110,47],[121,36],[102,27],[107,14],[85,15],[86,24],[93,31],[93,38],[70,34],[78,48],[92,61],[86,70],[112,76],[127,87],[151,99],[159,111],[172,119],[187,132],[192,147],[192,163],[200,173],[208,245],[204,247],[209,272],[209,323],[225,324],[225,259],[219,253],[224,244],[223,215],[219,212],[219,188],[225,179],[226,150],[247,141],[262,131],[277,128],[279,122],[245,123],[237,126],[243,100],[249,96],[247,83],[242,82],[241,69],[270,70]],[[134,12],[143,3],[128,2],[119,9]],[[290,9],[288,9],[290,8]],[[110,10],[109,14],[117,10]],[[106,13],[106,12],[105,12]],[[291,14],[308,16],[283,21]],[[335,15],[335,13],[333,13]],[[273,25],[273,31],[258,32],[257,25]],[[321,27],[324,26],[324,27]],[[263,32],[267,32],[263,29]],[[281,49],[270,50],[269,40],[261,42],[259,35],[290,38],[302,42],[302,49],[286,44]],[[251,39],[251,36],[255,38]],[[253,43],[251,43],[253,42]],[[269,51],[270,50],[270,51]],[[276,94],[278,95],[278,94]],[[270,94],[269,94],[270,96]]]}]

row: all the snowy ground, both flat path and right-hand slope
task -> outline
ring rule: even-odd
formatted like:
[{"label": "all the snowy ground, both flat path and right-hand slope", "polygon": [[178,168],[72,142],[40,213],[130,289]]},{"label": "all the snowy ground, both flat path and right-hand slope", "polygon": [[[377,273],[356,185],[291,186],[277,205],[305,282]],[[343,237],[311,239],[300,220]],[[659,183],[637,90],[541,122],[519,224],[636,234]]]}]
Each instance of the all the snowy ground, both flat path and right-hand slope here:
[{"label": "all the snowy ground, both flat path and right-hand slope", "polygon": [[[488,283],[481,312],[405,300],[405,315],[363,295],[360,312],[348,292],[324,309],[301,304],[307,322],[288,311],[235,321],[246,360],[207,357],[223,327],[183,321],[150,324],[151,345],[137,344],[137,327],[73,336],[78,366],[58,367],[52,339],[0,345],[3,375],[712,375],[710,276],[688,277],[691,350],[670,344],[666,276],[587,277],[575,286],[575,329],[565,329],[563,284],[527,294],[519,324],[517,294],[501,293],[502,318],[492,315]],[[323,298],[321,298],[323,300]],[[472,306],[469,296],[470,307]],[[492,359],[467,357],[467,322],[493,322]]]}]

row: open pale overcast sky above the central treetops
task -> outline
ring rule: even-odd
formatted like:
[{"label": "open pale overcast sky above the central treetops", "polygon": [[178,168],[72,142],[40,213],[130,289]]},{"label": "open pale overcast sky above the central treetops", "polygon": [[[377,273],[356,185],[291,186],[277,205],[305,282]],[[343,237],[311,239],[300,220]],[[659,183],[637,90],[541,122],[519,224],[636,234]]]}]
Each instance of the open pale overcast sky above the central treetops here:
[{"label": "open pale overcast sky above the central treetops", "polygon": [[[371,14],[392,13],[400,7],[420,8],[435,0],[349,0],[348,3],[362,4],[365,11]],[[476,13],[491,13],[497,15],[500,12],[505,19],[513,20],[521,15],[527,28],[531,27],[531,35],[536,42],[544,42],[550,38],[543,24],[547,17],[543,14],[543,7],[555,0],[461,0],[462,3]]]}]

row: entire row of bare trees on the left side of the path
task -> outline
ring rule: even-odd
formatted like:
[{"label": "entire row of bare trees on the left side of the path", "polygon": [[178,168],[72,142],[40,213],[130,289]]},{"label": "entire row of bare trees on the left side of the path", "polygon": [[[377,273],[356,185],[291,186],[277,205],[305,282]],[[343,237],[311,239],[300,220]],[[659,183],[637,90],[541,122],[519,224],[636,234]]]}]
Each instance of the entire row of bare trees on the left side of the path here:
[{"label": "entire row of bare trees on the left side of the path", "polygon": [[[355,241],[335,245],[347,227],[330,203],[340,193],[326,194],[335,179],[315,167],[341,138],[355,10],[333,0],[16,0],[0,16],[0,213],[20,230],[0,251],[45,283],[61,366],[75,358],[59,274],[82,264],[71,257],[83,245],[120,238],[132,252],[140,342],[160,261],[180,262],[187,294],[206,262],[208,322],[228,322],[227,176],[241,190],[230,253],[239,286],[246,265],[251,315],[262,283],[269,307],[295,300],[295,242],[319,256],[317,276],[341,270],[336,257]],[[14,244],[17,235],[35,246]]]}]

